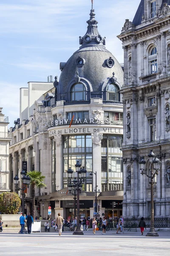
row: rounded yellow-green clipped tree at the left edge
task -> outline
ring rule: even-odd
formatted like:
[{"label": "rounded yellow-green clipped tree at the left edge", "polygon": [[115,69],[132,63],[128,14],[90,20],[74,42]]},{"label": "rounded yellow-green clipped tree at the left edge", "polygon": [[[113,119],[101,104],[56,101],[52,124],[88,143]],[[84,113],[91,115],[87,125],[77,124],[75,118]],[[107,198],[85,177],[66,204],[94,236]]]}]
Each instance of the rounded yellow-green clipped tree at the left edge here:
[{"label": "rounded yellow-green clipped tree at the left edge", "polygon": [[0,195],[0,212],[2,214],[17,214],[21,200],[15,192],[3,192]]}]

